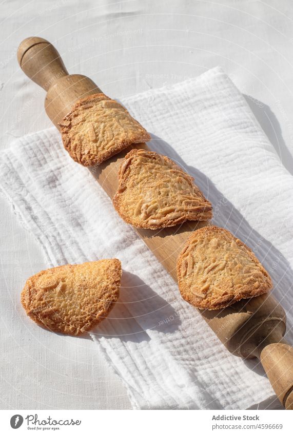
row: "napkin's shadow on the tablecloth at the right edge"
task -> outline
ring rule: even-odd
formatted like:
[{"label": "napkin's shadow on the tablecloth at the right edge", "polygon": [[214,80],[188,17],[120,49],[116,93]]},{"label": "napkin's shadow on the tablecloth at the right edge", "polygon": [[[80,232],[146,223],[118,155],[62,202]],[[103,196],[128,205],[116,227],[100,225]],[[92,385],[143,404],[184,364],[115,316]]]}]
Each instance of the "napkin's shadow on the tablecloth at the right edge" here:
[{"label": "napkin's shadow on the tablecloth at the right edge", "polygon": [[[251,95],[243,94],[243,97],[257,118],[259,125],[265,132],[270,143],[275,148],[282,164],[287,171],[293,175],[293,157],[283,139],[282,130],[276,115],[264,102],[253,98]],[[276,105],[278,105],[278,101],[276,101]]]}]

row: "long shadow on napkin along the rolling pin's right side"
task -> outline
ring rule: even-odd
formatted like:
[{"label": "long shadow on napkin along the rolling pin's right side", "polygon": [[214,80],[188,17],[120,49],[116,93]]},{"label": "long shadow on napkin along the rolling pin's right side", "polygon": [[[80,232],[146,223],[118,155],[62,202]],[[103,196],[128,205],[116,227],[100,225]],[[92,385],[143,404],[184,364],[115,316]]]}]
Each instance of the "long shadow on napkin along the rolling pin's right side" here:
[{"label": "long shadow on napkin along the rolling pin's right side", "polygon": [[[198,169],[188,166],[172,147],[158,136],[152,135],[150,148],[158,153],[165,154],[177,162],[188,174],[194,177],[204,195],[213,205],[212,223],[229,230],[233,235],[246,243],[255,253],[274,283],[272,293],[282,304],[287,315],[287,333],[285,338],[293,342],[293,271],[284,256],[268,240],[262,237],[249,225],[242,214],[233,204],[216,188],[213,182]],[[173,231],[178,231],[173,227]],[[260,365],[253,365],[253,360],[245,361],[247,366],[265,376]]]}]

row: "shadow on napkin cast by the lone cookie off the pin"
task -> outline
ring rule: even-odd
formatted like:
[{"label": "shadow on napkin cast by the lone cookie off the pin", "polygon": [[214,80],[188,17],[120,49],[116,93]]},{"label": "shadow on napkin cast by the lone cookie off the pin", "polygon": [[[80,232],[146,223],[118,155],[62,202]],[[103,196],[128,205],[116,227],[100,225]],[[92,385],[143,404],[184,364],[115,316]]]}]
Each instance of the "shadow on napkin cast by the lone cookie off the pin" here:
[{"label": "shadow on napkin cast by the lone cookie off the pin", "polygon": [[[181,324],[172,305],[137,275],[123,271],[120,298],[107,319],[91,331],[96,338],[119,338],[139,343],[150,341],[151,333],[172,334]],[[84,337],[86,338],[86,337]]]}]

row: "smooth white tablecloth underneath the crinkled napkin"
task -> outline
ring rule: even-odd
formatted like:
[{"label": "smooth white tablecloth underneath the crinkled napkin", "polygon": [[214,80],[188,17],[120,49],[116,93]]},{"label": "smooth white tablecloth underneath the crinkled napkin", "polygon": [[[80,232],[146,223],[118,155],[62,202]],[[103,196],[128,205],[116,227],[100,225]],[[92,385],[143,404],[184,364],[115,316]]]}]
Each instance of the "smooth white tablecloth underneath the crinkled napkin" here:
[{"label": "smooth white tablecloth underneath the crinkled napkin", "polygon": [[[45,92],[16,61],[19,42],[37,35],[55,44],[70,73],[90,76],[118,98],[221,65],[293,173],[290,6],[290,0],[7,2],[0,44],[1,147],[51,125],[43,110]],[[121,382],[90,340],[52,334],[44,343],[40,334],[39,348],[30,346],[19,321],[19,293],[45,262],[3,197],[0,206],[1,408],[129,408]],[[14,326],[8,328],[11,318]],[[53,367],[46,364],[51,353]]]}]

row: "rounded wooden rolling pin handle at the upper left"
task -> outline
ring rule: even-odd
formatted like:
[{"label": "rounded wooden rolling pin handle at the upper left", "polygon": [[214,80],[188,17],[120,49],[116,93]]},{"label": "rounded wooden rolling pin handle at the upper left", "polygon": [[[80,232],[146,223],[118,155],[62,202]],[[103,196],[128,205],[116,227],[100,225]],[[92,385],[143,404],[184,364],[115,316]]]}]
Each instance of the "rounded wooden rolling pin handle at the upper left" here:
[{"label": "rounded wooden rolling pin handle at the upper left", "polygon": [[60,54],[43,38],[24,39],[17,49],[17,60],[24,73],[46,91],[68,75]]}]

